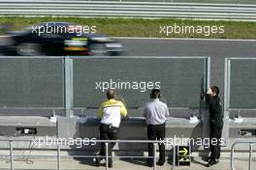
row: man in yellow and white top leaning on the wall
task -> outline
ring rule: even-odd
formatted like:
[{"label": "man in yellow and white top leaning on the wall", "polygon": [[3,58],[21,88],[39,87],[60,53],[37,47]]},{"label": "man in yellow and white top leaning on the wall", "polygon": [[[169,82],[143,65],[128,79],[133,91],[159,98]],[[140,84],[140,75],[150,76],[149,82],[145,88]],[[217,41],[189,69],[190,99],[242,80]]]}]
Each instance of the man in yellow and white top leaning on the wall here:
[{"label": "man in yellow and white top leaning on the wall", "polygon": [[[115,92],[109,89],[107,92],[107,101],[104,101],[99,108],[100,139],[101,140],[116,140],[117,131],[121,122],[121,116],[128,118],[127,110],[123,102],[115,100]],[[109,156],[112,156],[112,148],[115,143],[109,144]],[[106,156],[105,143],[101,143],[100,156]],[[101,158],[96,157],[96,166],[100,166]],[[112,168],[112,158],[109,158],[108,166]]]}]

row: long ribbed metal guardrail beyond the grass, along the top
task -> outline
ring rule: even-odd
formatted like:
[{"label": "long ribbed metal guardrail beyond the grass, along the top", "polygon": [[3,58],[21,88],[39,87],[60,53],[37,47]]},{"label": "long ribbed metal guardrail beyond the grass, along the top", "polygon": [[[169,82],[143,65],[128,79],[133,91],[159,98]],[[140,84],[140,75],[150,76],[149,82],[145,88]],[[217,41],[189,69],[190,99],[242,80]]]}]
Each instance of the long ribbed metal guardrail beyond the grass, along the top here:
[{"label": "long ribbed metal guardrail beyond the grass, along the top", "polygon": [[0,0],[0,15],[179,17],[255,21],[256,5],[83,0]]}]

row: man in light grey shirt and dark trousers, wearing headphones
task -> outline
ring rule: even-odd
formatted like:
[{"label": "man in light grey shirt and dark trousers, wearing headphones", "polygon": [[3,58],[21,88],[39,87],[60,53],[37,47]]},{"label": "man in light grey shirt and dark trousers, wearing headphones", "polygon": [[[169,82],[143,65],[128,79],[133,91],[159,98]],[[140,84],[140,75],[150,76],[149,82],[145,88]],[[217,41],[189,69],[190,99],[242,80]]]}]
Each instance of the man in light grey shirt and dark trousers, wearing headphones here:
[{"label": "man in light grey shirt and dark trousers, wearing headphones", "polygon": [[[151,101],[147,102],[144,107],[144,117],[147,125],[148,140],[164,140],[165,138],[165,123],[166,117],[170,116],[167,104],[160,101],[160,90],[153,89],[150,94]],[[148,156],[153,156],[153,144],[148,144]],[[162,166],[165,163],[165,145],[159,143],[159,160],[158,165]],[[153,159],[148,158],[146,166],[153,166]]]}]

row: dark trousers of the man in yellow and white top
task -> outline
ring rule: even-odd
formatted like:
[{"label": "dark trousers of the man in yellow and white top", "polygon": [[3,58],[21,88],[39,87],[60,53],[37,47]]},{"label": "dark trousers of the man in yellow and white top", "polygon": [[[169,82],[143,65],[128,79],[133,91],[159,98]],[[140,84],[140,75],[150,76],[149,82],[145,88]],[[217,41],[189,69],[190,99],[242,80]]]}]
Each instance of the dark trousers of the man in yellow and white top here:
[{"label": "dark trousers of the man in yellow and white top", "polygon": [[[116,140],[117,139],[117,131],[118,128],[110,127],[109,125],[101,124],[100,126],[100,139],[101,140]],[[112,156],[112,148],[115,145],[115,143],[109,143],[109,156]],[[106,156],[106,146],[105,143],[101,143],[101,156]],[[112,163],[112,158],[109,158],[109,163]]]}]

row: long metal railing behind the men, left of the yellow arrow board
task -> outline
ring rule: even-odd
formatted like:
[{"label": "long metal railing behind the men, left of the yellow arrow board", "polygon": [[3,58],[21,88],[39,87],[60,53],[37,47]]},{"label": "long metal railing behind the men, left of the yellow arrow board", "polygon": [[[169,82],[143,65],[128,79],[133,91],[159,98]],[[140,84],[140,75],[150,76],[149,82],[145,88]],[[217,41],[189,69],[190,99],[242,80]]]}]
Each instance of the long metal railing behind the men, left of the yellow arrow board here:
[{"label": "long metal railing behind the men, left of the yellow arrow board", "polygon": [[[10,149],[10,168],[11,170],[15,170],[15,155],[14,155],[14,142],[34,142],[33,140],[0,140],[0,142],[9,142],[9,149]],[[109,143],[152,143],[153,144],[153,156],[115,156],[119,158],[153,158],[153,170],[156,170],[156,145],[159,143],[167,144],[168,140],[163,141],[156,141],[156,140],[94,140],[96,143],[105,143],[106,146],[106,156],[72,156],[72,157],[83,157],[83,158],[93,158],[93,157],[104,157],[106,159],[106,166],[105,169],[109,169],[109,158],[114,156],[109,156]],[[56,143],[56,152],[57,152],[57,170],[61,169],[61,144],[62,142]],[[176,167],[176,147],[174,144],[168,143],[169,146],[172,146],[173,148],[173,167],[172,169],[175,169]]]}]

